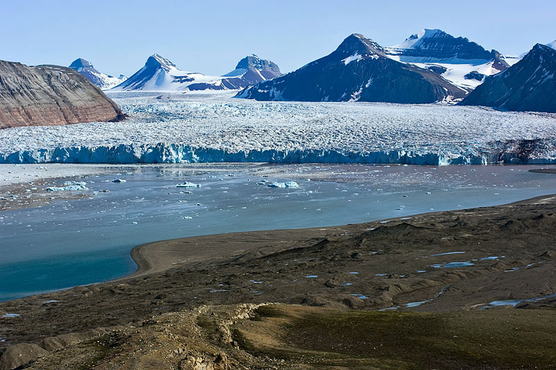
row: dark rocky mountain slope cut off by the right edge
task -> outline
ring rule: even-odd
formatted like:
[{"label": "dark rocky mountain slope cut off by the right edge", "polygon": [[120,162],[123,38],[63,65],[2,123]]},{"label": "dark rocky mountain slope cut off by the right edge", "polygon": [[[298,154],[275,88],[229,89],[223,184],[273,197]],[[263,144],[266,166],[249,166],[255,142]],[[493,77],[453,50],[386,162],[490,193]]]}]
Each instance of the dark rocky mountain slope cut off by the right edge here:
[{"label": "dark rocky mountain slope cut off by the right edge", "polygon": [[556,112],[555,74],[556,50],[536,44],[515,65],[486,78],[460,104],[502,110]]}]

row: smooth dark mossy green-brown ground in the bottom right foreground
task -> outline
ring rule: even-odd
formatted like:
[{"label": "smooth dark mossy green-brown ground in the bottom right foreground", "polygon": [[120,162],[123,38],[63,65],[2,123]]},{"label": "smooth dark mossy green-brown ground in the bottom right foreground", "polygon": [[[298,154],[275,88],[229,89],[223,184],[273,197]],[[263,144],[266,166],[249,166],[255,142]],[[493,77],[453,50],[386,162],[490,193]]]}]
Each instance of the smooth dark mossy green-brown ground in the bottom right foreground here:
[{"label": "smooth dark mossy green-brown ground in the bottom right foreground", "polygon": [[314,368],[556,368],[556,312],[548,310],[422,314],[275,305],[259,308],[252,323],[238,330],[250,351]]}]

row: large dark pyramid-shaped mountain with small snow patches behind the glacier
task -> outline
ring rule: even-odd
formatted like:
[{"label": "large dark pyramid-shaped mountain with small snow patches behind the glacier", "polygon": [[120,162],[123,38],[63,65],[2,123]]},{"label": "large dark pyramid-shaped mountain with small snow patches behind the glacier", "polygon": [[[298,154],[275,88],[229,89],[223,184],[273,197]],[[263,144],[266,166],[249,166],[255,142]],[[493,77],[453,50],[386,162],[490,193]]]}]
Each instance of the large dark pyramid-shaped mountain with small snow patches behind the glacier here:
[{"label": "large dark pyramid-shaped mountain with small snow patches behind the glacier", "polygon": [[392,60],[363,35],[353,34],[328,56],[263,81],[236,97],[263,101],[383,101],[432,103],[466,92],[438,74]]}]

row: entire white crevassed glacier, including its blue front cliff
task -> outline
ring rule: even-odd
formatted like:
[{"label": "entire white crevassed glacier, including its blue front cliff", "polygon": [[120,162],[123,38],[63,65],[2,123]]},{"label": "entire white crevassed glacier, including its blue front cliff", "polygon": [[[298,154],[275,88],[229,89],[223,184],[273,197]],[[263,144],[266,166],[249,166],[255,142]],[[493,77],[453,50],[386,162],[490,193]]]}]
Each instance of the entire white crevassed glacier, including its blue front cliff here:
[{"label": "entire white crevassed glacier, including its blue front cliff", "polygon": [[555,164],[556,115],[115,94],[129,119],[0,131],[0,163]]}]

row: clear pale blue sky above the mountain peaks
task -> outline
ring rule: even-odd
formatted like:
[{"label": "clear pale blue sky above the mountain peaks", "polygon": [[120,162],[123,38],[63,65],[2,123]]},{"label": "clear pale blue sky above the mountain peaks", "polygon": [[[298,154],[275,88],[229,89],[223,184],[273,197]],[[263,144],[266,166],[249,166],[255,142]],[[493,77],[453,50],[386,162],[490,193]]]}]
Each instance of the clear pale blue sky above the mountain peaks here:
[{"label": "clear pale blue sky above the mountain peaks", "polygon": [[519,54],[556,40],[554,0],[174,1],[5,0],[0,59],[131,76],[153,53],[180,69],[224,74],[250,53],[290,72],[351,33],[398,44],[423,28]]}]

